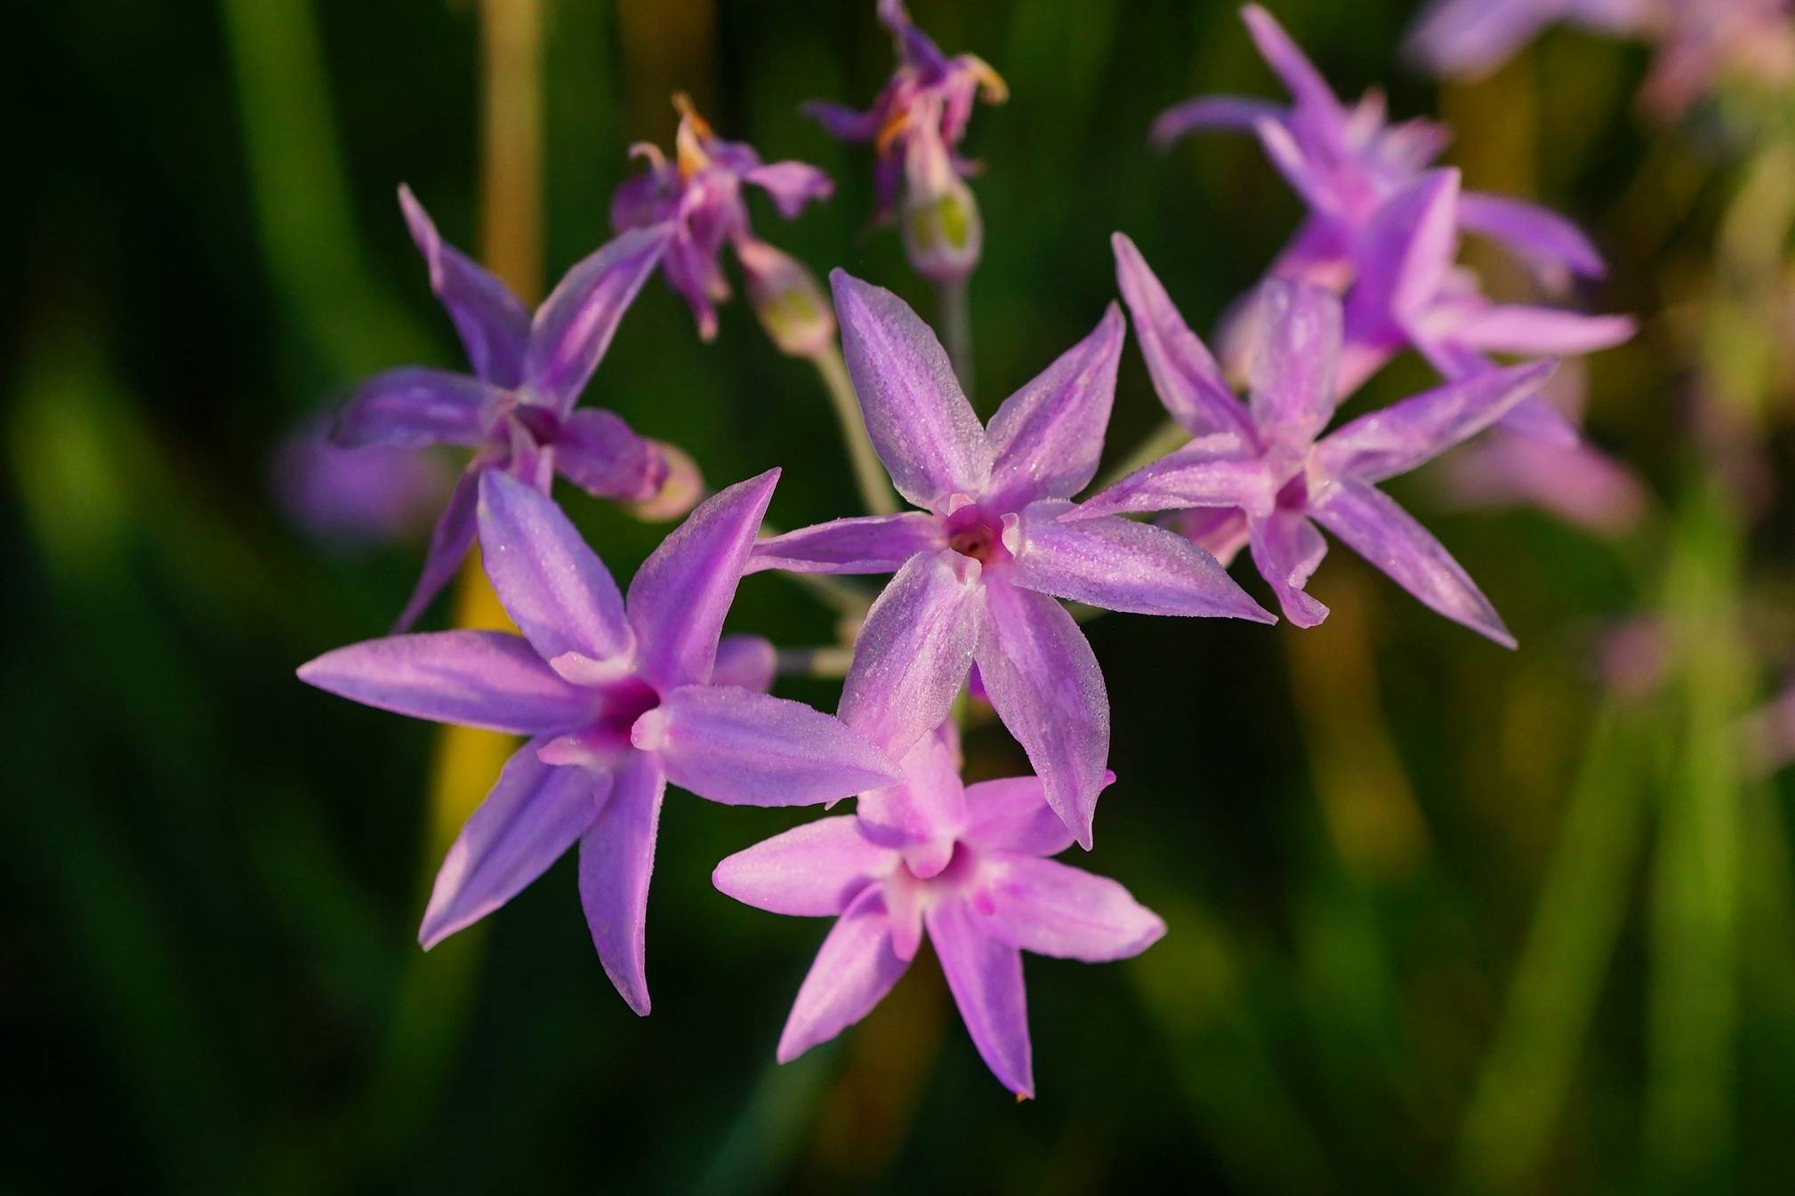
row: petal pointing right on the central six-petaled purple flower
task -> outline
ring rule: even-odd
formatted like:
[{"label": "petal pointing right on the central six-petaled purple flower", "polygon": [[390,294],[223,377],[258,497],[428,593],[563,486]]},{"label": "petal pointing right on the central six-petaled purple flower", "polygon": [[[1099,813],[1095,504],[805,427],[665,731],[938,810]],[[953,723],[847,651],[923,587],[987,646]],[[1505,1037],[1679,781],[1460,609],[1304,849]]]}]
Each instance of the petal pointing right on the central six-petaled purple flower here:
[{"label": "petal pointing right on the central six-petaled purple flower", "polygon": [[1276,622],[1183,536],[1118,516],[1059,522],[1066,509],[1036,502],[1023,511],[1018,586],[1136,615]]}]

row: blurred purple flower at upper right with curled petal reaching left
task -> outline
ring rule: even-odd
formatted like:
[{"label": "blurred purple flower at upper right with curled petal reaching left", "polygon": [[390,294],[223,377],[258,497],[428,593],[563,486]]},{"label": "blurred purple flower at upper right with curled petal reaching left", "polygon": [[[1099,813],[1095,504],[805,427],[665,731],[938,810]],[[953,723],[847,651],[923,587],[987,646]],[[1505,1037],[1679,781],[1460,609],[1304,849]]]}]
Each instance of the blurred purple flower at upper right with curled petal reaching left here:
[{"label": "blurred purple flower at upper right with curled petal reaching left", "polygon": [[[1341,104],[1265,9],[1248,5],[1240,18],[1289,88],[1291,104],[1204,95],[1165,111],[1152,126],[1152,140],[1163,147],[1197,129],[1256,133],[1273,165],[1309,206],[1309,217],[1271,273],[1341,290],[1353,274],[1361,256],[1355,246],[1371,217],[1440,156],[1450,134],[1431,120],[1388,124],[1377,91],[1352,108]],[[1519,199],[1468,192],[1458,204],[1454,228],[1483,233],[1553,274],[1603,274],[1601,255],[1572,222]]]}]

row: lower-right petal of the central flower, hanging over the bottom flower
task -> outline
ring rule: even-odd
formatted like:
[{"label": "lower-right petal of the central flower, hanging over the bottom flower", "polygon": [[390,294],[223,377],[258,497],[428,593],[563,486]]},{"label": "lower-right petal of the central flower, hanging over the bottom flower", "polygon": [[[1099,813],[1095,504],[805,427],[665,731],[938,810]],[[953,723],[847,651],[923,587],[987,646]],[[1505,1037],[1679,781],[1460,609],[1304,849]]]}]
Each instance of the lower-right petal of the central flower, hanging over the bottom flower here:
[{"label": "lower-right petal of the central flower, hanging over the bottom flower", "polygon": [[1084,633],[1045,594],[987,579],[976,660],[985,694],[1029,753],[1048,805],[1088,850],[1109,760],[1109,696]]}]

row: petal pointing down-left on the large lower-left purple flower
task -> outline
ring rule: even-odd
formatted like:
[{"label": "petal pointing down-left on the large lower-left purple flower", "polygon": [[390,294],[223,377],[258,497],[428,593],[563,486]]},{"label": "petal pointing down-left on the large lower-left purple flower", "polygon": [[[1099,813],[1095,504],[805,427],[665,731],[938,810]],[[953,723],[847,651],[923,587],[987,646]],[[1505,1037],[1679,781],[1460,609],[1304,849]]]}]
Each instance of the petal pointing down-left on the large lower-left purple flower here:
[{"label": "petal pointing down-left on the large lower-left purple flower", "polygon": [[598,818],[610,776],[551,767],[537,758],[542,742],[512,753],[443,855],[418,929],[425,950],[522,893]]}]

